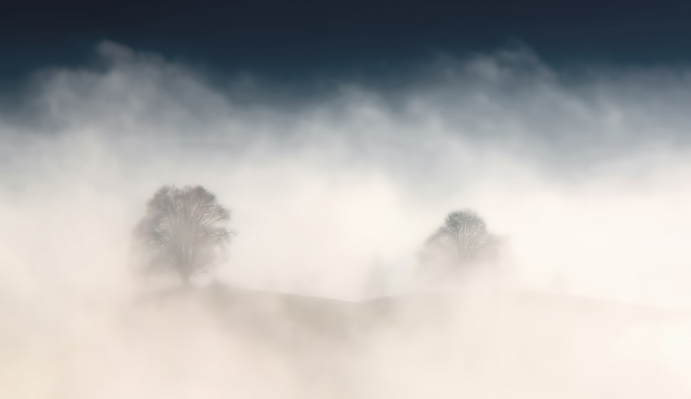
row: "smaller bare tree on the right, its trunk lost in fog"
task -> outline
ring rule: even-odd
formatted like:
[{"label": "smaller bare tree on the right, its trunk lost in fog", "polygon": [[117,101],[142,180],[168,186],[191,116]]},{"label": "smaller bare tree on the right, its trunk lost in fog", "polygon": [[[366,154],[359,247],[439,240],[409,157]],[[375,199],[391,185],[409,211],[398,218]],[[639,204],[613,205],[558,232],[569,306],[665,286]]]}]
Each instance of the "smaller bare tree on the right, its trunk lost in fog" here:
[{"label": "smaller bare tree on the right, its trunk lost in fog", "polygon": [[426,242],[426,249],[455,264],[478,260],[497,242],[482,217],[469,209],[446,215],[444,224]]}]

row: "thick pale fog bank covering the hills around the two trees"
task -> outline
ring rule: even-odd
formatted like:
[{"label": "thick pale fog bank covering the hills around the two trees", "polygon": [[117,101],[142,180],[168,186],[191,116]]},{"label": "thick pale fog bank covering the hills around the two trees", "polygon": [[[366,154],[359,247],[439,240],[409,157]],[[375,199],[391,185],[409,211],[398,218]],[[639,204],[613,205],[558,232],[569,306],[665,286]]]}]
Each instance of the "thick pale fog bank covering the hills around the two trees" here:
[{"label": "thick pale fog bank covering the hills around the two trees", "polygon": [[[6,94],[1,396],[688,398],[691,70],[529,48],[411,68],[274,97],[104,42]],[[132,245],[164,184],[232,212],[227,259],[187,291]],[[458,208],[500,262],[421,280]]]}]

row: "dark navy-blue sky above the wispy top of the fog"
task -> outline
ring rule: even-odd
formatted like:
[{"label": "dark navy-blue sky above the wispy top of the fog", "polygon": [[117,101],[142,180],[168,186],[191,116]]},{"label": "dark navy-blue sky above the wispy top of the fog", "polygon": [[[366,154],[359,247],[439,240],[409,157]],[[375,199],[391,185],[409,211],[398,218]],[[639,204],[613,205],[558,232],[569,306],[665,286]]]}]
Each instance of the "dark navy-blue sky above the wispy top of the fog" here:
[{"label": "dark navy-blue sky above the wispy top of the fog", "polygon": [[273,77],[395,68],[527,44],[553,63],[686,62],[690,1],[0,2],[0,79],[79,64],[102,39]]}]

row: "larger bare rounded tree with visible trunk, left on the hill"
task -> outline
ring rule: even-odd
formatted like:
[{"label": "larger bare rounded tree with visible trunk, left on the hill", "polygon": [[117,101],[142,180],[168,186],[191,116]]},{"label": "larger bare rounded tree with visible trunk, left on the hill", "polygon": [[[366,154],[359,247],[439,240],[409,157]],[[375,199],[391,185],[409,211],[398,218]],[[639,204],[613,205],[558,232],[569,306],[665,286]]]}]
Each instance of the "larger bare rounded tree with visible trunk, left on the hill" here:
[{"label": "larger bare rounded tree with visible trunk, left on the hill", "polygon": [[151,269],[175,271],[189,283],[216,266],[230,240],[229,220],[230,212],[206,188],[163,186],[146,204],[136,234],[153,255]]}]

